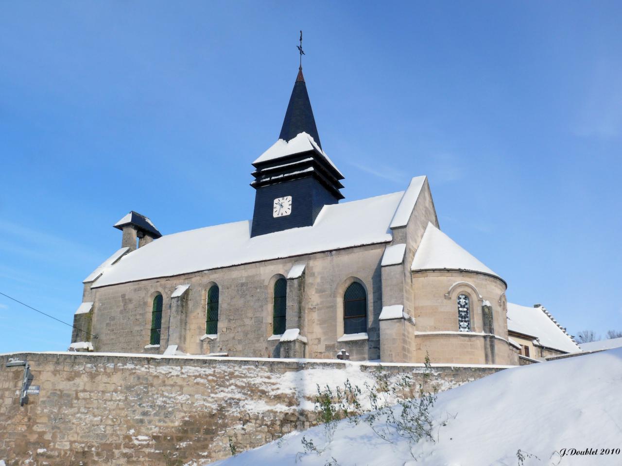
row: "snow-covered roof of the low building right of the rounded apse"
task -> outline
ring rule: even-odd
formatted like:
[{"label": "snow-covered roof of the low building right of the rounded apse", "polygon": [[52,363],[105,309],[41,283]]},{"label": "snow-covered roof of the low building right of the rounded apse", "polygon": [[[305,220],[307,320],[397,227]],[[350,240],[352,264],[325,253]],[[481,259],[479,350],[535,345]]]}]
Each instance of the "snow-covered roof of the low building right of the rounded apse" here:
[{"label": "snow-covered roof of the low building right of the rounded apse", "polygon": [[536,343],[568,353],[577,352],[578,345],[552,320],[544,308],[508,303],[508,331],[529,335]]}]

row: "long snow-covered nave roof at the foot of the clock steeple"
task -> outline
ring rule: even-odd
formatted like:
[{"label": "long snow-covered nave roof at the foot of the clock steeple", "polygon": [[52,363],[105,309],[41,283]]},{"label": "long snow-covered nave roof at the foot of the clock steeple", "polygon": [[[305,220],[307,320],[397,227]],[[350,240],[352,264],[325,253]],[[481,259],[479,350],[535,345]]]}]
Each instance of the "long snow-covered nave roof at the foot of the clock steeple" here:
[{"label": "long snow-covered nave roof at the foot of the clock steeple", "polygon": [[313,226],[255,237],[249,221],[164,235],[105,268],[93,287],[390,242],[389,224],[403,194],[330,204]]}]

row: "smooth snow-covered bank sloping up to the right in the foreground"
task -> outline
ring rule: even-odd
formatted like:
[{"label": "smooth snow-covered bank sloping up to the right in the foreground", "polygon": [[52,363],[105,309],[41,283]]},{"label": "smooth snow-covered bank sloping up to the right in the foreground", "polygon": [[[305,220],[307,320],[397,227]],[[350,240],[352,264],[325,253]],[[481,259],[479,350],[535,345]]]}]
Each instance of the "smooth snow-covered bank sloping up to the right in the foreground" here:
[{"label": "smooth snow-covered bank sloping up to the right in the foreground", "polygon": [[[622,465],[621,394],[622,348],[511,368],[440,393],[435,441],[415,444],[415,458],[404,439],[389,443],[364,423],[341,421],[322,455],[299,454],[303,436],[323,445],[319,426],[216,464],[325,466],[334,458],[341,466],[509,466],[521,465],[521,450],[535,455],[526,455],[525,466]],[[598,454],[569,456],[570,449]]]}]

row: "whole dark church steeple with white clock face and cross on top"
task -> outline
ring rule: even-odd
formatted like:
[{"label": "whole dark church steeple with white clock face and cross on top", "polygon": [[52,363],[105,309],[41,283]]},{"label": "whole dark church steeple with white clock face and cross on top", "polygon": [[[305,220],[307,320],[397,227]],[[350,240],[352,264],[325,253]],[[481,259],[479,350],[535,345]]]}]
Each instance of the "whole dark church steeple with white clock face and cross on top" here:
[{"label": "whole dark church steeple with white clock face and cross on top", "polygon": [[322,150],[300,67],[279,140],[253,162],[251,236],[312,226],[322,208],[343,199],[343,175]]}]

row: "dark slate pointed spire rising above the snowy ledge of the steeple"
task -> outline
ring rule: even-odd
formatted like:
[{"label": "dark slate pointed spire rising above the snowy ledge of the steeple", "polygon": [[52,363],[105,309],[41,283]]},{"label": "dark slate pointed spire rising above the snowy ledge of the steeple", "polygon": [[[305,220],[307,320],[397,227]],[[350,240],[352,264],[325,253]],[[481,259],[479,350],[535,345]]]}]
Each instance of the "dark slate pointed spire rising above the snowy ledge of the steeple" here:
[{"label": "dark slate pointed spire rising above the snowy ledge of the steeple", "polygon": [[317,127],[315,127],[309,94],[307,94],[307,85],[304,76],[302,76],[302,66],[300,66],[292,96],[289,98],[279,139],[289,141],[303,131],[312,136],[320,148],[322,147],[320,135],[317,134]]}]

